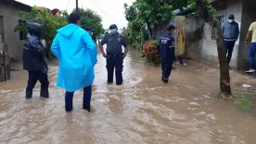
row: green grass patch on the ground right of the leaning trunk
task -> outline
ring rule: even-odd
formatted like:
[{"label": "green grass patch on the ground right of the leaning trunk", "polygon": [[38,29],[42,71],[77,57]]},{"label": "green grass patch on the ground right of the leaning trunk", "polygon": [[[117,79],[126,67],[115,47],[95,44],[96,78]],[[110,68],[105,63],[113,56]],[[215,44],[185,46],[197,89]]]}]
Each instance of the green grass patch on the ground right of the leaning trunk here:
[{"label": "green grass patch on the ground right of the leaning trunk", "polygon": [[234,104],[250,114],[256,114],[256,102],[250,100],[246,95],[239,94],[234,96]]}]

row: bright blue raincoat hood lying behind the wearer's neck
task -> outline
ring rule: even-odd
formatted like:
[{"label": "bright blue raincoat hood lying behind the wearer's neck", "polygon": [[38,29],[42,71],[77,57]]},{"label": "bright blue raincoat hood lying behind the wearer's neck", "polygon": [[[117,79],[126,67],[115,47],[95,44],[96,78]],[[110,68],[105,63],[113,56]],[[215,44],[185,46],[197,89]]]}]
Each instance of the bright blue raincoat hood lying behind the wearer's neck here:
[{"label": "bright blue raincoat hood lying behind the wearer's neck", "polygon": [[69,24],[63,28],[60,28],[58,31],[58,33],[68,39],[70,39],[70,37],[73,35],[74,31],[76,29],[80,28],[79,26],[75,25],[75,24]]}]

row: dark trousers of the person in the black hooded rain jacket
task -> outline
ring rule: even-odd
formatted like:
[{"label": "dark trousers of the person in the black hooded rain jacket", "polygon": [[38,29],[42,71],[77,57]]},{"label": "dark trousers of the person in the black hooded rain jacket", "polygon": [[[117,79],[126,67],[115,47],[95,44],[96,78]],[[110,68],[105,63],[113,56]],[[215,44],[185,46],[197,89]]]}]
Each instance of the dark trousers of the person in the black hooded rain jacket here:
[{"label": "dark trousers of the person in the black hooded rain jacket", "polygon": [[41,90],[48,89],[49,81],[47,74],[42,73],[41,71],[29,71],[29,80],[26,91],[32,91],[37,80],[41,83]]}]

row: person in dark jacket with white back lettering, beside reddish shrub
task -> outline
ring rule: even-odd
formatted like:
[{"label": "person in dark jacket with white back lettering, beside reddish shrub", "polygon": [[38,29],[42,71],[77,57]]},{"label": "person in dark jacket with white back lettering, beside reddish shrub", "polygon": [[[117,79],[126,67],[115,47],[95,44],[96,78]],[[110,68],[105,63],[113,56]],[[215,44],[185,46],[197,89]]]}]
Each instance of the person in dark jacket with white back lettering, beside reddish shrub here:
[{"label": "person in dark jacket with white back lettering, beside reddish shrub", "polygon": [[161,62],[161,80],[164,83],[168,83],[169,77],[171,75],[173,69],[173,60],[175,58],[174,55],[174,38],[173,31],[176,27],[171,23],[167,26],[168,32],[160,37],[160,41],[158,42],[158,51],[160,53],[160,62]]}]

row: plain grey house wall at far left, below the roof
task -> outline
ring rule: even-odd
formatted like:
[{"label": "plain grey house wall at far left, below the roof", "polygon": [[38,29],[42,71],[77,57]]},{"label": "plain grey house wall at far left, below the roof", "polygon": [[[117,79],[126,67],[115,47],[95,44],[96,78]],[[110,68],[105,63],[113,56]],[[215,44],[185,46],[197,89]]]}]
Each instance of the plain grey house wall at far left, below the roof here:
[{"label": "plain grey house wall at far left, below the roof", "polygon": [[19,10],[21,9],[16,6],[6,5],[0,1],[0,17],[3,18],[3,26],[0,24],[0,27],[4,27],[2,39],[7,43],[10,57],[14,59],[22,56],[23,42],[19,40],[19,32],[14,32],[14,28],[19,24]]}]

